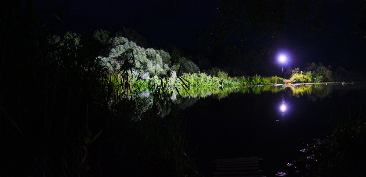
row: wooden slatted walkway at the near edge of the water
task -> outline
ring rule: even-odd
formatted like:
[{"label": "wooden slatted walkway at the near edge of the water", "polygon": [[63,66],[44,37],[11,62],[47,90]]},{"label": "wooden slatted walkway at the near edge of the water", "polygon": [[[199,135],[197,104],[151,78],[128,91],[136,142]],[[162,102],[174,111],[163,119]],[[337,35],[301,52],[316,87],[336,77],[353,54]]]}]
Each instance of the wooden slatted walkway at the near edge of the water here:
[{"label": "wooden slatted walkway at the near edge of the water", "polygon": [[216,163],[214,177],[263,177],[262,170],[259,169],[259,161],[262,158],[232,158],[216,159],[211,161]]}]

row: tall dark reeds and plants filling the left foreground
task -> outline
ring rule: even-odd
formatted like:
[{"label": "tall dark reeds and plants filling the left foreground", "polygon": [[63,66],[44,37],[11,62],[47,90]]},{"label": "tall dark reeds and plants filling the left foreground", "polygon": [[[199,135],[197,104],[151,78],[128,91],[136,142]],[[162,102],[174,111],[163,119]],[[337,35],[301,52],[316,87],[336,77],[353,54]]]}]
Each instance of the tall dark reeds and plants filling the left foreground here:
[{"label": "tall dark reeds and plants filling the left foreground", "polygon": [[112,72],[97,58],[96,40],[56,36],[32,4],[6,3],[0,176],[197,175],[180,119],[165,116],[174,109],[165,88],[153,87],[152,100],[131,90],[133,51]]}]

